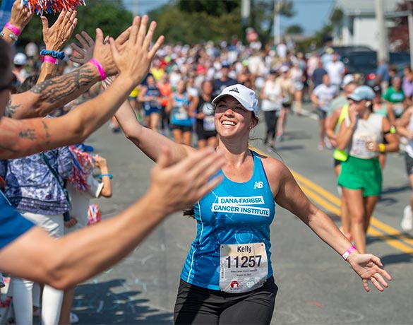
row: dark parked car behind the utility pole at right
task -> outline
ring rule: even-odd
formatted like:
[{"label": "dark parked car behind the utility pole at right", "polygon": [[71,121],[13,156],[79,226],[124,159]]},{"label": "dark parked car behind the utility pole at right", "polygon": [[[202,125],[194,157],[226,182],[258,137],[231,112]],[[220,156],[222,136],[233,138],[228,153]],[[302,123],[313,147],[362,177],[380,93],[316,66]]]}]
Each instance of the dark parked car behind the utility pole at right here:
[{"label": "dark parked car behind the utility pole at right", "polygon": [[[347,73],[359,73],[361,80],[366,85],[374,85],[377,71],[377,52],[359,51],[350,52],[342,58]],[[410,66],[410,54],[408,52],[391,52],[389,54],[389,64],[395,64],[397,74],[402,76],[405,66]]]}]

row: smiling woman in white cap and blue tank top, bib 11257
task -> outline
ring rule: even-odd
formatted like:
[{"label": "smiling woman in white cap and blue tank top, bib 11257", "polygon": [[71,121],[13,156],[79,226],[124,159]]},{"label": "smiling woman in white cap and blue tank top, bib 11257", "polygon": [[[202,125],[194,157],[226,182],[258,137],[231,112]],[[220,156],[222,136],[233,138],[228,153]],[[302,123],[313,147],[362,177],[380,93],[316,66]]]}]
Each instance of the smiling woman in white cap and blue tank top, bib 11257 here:
[{"label": "smiling woman in white cap and blue tank top, bib 11257", "polygon": [[[244,85],[230,85],[213,100],[218,153],[226,164],[223,181],[187,214],[197,222],[181,272],[175,324],[270,324],[277,285],[270,254],[270,224],[280,205],[297,215],[330,245],[363,279],[378,290],[390,276],[378,257],[359,254],[333,221],[301,191],[280,160],[249,148],[249,134],[258,124],[256,93]],[[160,145],[167,146],[177,162],[196,149],[174,143],[133,119],[124,102],[116,119],[126,136],[157,160]]]}]

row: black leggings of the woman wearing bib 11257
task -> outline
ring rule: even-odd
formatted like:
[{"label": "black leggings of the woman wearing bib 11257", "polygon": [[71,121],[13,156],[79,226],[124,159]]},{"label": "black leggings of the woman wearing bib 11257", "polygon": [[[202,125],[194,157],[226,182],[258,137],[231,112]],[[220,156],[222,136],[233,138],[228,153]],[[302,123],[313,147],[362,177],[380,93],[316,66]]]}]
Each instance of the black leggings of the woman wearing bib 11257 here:
[{"label": "black leggings of the woman wearing bib 11257", "polygon": [[181,280],[174,324],[270,324],[277,290],[273,276],[249,293],[224,293]]}]

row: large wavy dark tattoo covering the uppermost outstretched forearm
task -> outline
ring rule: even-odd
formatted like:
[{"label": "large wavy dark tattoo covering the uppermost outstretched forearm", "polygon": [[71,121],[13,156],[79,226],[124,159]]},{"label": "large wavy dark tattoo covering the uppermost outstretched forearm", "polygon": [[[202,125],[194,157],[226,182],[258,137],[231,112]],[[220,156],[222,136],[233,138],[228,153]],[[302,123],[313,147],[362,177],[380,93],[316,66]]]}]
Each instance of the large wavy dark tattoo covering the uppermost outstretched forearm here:
[{"label": "large wavy dark tattoo covering the uppermost outstretched forearm", "polygon": [[30,92],[40,94],[41,99],[49,104],[55,104],[81,87],[90,85],[95,77],[96,73],[89,65],[85,65],[71,73],[39,83],[30,89]]}]

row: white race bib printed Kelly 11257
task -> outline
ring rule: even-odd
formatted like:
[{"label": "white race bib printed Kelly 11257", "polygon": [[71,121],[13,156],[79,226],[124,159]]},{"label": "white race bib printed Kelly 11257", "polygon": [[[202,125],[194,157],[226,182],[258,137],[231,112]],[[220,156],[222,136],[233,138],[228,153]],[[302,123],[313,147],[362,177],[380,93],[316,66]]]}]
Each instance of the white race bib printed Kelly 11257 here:
[{"label": "white race bib printed Kelly 11257", "polygon": [[268,276],[265,244],[220,245],[220,290],[246,293],[260,288]]}]

